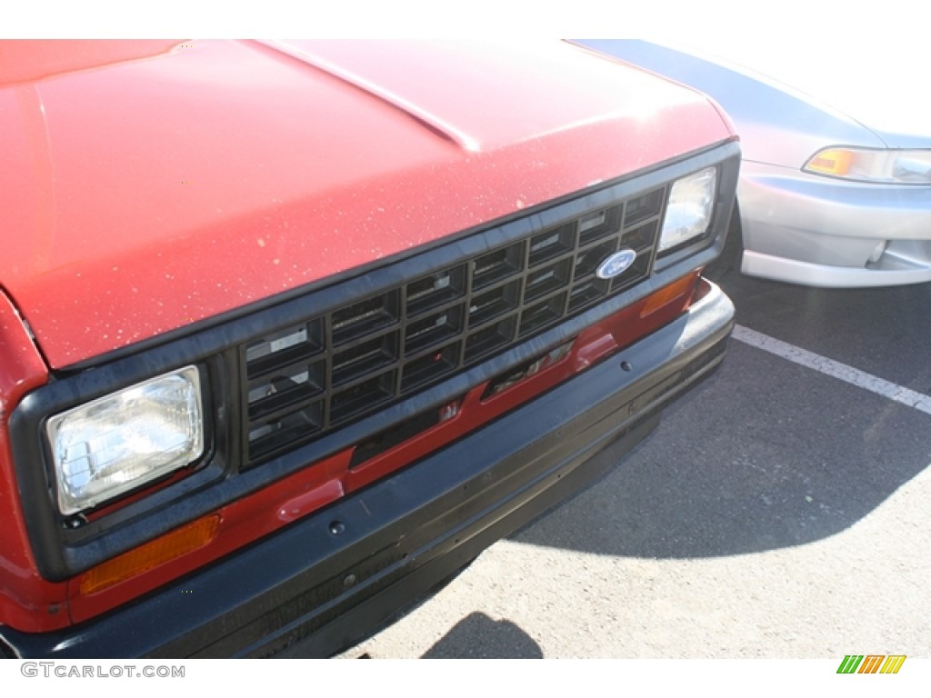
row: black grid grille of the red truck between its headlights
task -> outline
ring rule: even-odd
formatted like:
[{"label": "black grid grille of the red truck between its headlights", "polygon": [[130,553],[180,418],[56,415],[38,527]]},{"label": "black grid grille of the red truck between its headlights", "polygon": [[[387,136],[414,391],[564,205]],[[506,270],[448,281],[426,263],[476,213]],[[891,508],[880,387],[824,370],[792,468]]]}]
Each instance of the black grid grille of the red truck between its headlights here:
[{"label": "black grid grille of the red truck between its headlights", "polygon": [[[242,344],[249,463],[384,409],[638,283],[651,271],[665,200],[659,187],[614,201]],[[621,248],[637,252],[634,263],[598,277]]]}]

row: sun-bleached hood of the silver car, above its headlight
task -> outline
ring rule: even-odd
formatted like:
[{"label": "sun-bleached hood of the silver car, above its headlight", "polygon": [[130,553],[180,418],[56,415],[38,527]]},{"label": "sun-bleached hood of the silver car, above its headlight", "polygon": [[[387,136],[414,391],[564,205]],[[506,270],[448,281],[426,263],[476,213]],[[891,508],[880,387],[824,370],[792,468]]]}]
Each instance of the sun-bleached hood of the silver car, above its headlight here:
[{"label": "sun-bleached hood of the silver car, above its headlight", "polygon": [[731,68],[824,102],[870,128],[890,148],[931,148],[927,46],[897,43],[895,33],[890,34],[843,51],[832,42],[787,46],[748,35],[677,48],[726,61]]}]

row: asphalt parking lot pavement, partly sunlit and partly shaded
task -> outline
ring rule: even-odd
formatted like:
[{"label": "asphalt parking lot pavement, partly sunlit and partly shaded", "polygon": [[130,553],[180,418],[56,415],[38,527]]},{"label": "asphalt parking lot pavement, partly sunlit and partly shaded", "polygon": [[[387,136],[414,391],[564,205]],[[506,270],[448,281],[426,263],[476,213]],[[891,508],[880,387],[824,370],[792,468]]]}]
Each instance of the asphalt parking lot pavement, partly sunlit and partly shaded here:
[{"label": "asphalt parking lot pavement, partly sunlit and partly shaded", "polygon": [[721,369],[342,656],[931,658],[931,284],[722,287]]}]

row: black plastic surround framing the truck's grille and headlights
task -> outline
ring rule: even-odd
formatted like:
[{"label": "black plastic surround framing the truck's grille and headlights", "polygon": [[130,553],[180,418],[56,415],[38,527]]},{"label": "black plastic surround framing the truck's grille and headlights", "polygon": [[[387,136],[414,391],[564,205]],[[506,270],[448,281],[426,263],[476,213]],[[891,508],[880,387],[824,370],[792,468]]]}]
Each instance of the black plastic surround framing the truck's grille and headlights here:
[{"label": "black plastic surround framing the truck's grille and headlights", "polygon": [[[248,444],[240,429],[240,425],[246,423],[246,415],[242,411],[245,401],[241,378],[246,375],[246,371],[240,365],[244,356],[239,350],[244,342],[277,329],[288,328],[294,324],[294,318],[330,313],[347,303],[398,288],[406,281],[445,269],[464,258],[533,235],[585,211],[603,208],[618,199],[628,200],[702,168],[721,168],[722,186],[719,191],[733,191],[727,183],[735,184],[739,154],[736,141],[725,141],[699,153],[686,154],[675,162],[618,181],[601,183],[585,192],[567,195],[545,207],[522,211],[504,222],[494,221],[480,229],[443,239],[434,246],[417,250],[385,266],[369,265],[353,270],[351,275],[340,275],[341,280],[325,288],[319,288],[320,284],[311,285],[302,289],[300,295],[295,291],[255,303],[246,309],[223,315],[223,324],[207,329],[198,329],[203,326],[195,325],[185,330],[190,331],[185,336],[178,337],[171,333],[159,338],[164,343],[141,342],[133,347],[136,353],[127,356],[128,350],[121,350],[107,356],[118,358],[101,366],[89,368],[89,365],[84,365],[82,368],[86,369],[76,373],[70,370],[59,371],[50,383],[26,396],[13,410],[10,418],[10,437],[20,499],[38,570],[48,580],[64,580],[196,517],[248,496],[250,492],[303,469],[308,463],[314,463],[395,424],[403,423],[424,409],[448,403],[479,383],[565,342],[582,329],[711,261],[723,244],[727,216],[723,215],[722,210],[716,210],[711,233],[707,240],[700,243],[699,248],[689,250],[687,255],[677,254],[664,261],[662,271],[654,270],[649,278],[607,301],[356,423],[350,423],[310,444],[273,457],[261,467],[241,471],[242,463],[247,463],[248,459]],[[733,201],[727,200],[722,194],[719,208],[726,208],[729,213],[732,204]],[[481,231],[485,235],[475,235]],[[282,301],[282,298],[289,300]],[[173,339],[169,341],[169,338]],[[209,461],[194,476],[184,478],[151,497],[129,504],[125,510],[101,517],[93,528],[65,530],[54,503],[52,477],[43,453],[43,421],[49,414],[61,409],[68,409],[191,363],[209,367],[209,385],[216,407],[213,424],[215,450]]]}]

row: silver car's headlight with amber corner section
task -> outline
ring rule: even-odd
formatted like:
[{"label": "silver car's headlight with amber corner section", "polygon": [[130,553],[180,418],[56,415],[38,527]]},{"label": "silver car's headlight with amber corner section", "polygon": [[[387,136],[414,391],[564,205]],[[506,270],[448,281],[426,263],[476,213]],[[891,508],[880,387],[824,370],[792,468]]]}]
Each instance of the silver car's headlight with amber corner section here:
[{"label": "silver car's headlight with amber corner section", "polygon": [[803,170],[843,180],[884,184],[931,184],[931,150],[826,148]]}]

